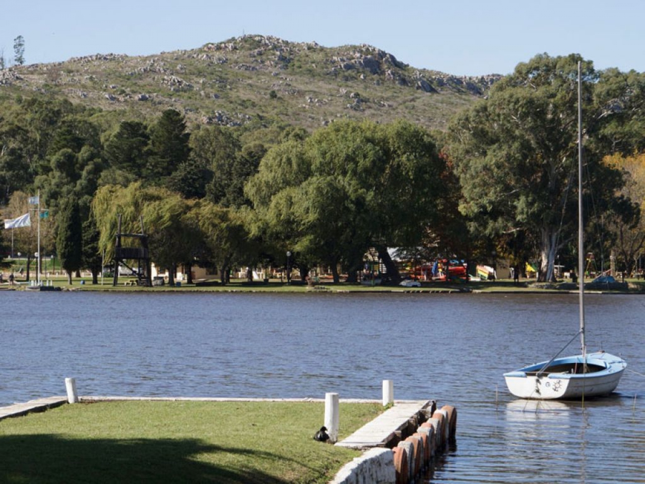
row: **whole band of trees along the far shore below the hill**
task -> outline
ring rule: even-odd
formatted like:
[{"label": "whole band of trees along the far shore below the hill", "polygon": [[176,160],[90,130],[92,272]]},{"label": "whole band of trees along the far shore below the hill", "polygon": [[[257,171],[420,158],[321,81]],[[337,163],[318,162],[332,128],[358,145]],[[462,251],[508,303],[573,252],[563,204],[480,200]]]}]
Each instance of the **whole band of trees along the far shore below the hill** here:
[{"label": "whole band of trees along the far shore below the hill", "polygon": [[[70,282],[81,267],[97,280],[119,214],[125,231],[143,217],[170,274],[200,265],[226,281],[233,267],[284,265],[288,251],[303,277],[323,265],[352,281],[374,249],[395,281],[396,247],[424,260],[539,261],[548,281],[575,259],[579,60],[586,250],[631,272],[645,234],[645,76],[596,71],[579,55],[519,64],[445,132],[340,120],[309,133],[261,116],[187,126],[172,109],[145,119],[46,95],[0,99],[0,203],[13,218],[41,194],[52,215],[41,243]],[[34,239],[24,228],[13,243],[30,257]]]}]

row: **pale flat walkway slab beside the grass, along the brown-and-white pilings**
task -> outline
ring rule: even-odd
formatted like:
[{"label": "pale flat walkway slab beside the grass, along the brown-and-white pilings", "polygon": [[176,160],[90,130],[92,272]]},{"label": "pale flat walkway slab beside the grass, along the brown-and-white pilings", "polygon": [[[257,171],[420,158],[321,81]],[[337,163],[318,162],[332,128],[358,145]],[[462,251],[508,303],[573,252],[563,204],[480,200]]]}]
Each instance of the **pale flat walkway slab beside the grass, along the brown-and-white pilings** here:
[{"label": "pale flat walkway slab beside the grass, along the brown-and-white pilings", "polygon": [[432,408],[434,401],[395,401],[393,407],[388,408],[377,418],[366,423],[361,429],[348,438],[336,443],[341,447],[352,449],[368,449],[370,447],[384,447],[394,438],[396,432],[407,427],[408,422],[424,408]]}]

